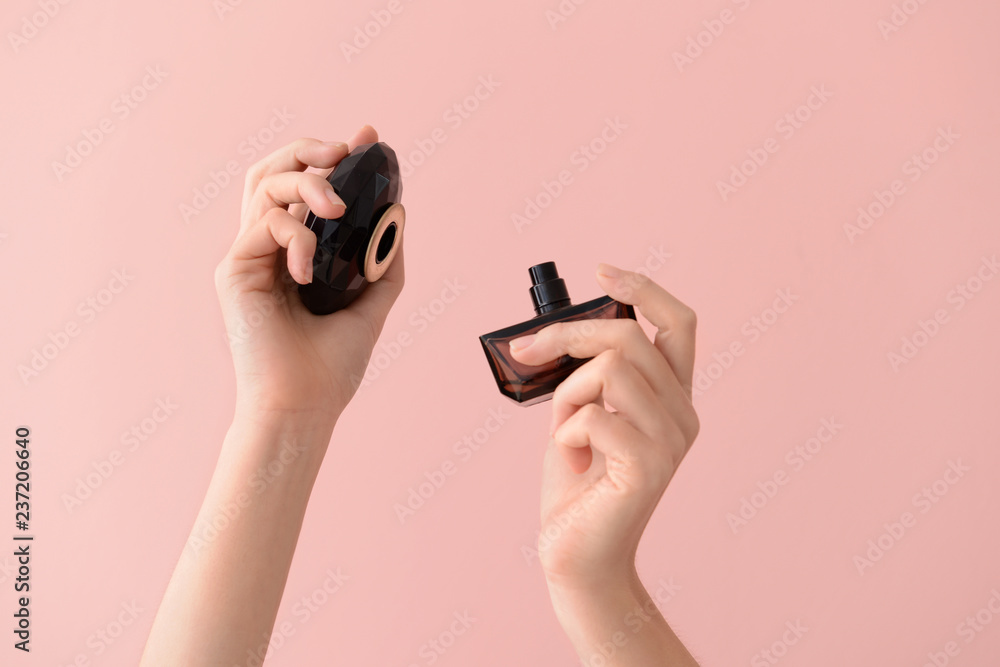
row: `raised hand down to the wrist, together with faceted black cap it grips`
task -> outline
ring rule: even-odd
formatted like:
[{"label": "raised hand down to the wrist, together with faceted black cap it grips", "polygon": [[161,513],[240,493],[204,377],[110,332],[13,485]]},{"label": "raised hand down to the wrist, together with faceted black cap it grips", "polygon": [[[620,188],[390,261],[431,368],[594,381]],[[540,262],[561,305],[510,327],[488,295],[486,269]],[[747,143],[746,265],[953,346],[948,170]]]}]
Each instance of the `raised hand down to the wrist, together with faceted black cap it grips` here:
[{"label": "raised hand down to the wrist, together with faceted black cap it grips", "polygon": [[[299,139],[248,173],[240,230],[215,273],[236,370],[237,411],[254,418],[290,411],[332,428],[357,390],[403,287],[402,235],[390,229],[401,219],[382,215],[399,199],[398,180],[391,178],[395,161],[377,142],[370,126],[347,143]],[[349,169],[335,169],[329,180],[304,171],[343,163]],[[346,203],[331,181],[341,186]],[[352,218],[352,210],[358,216]],[[325,225],[323,238],[304,219],[317,230]],[[372,227],[373,220],[387,224]],[[402,232],[401,224],[395,231]],[[347,242],[338,246],[335,261],[324,264],[322,247],[340,236]],[[391,247],[379,239],[390,239]],[[377,282],[371,282],[373,273],[361,273],[365,256]],[[296,294],[299,286],[314,288],[304,298],[316,310],[337,312],[314,315]]]}]

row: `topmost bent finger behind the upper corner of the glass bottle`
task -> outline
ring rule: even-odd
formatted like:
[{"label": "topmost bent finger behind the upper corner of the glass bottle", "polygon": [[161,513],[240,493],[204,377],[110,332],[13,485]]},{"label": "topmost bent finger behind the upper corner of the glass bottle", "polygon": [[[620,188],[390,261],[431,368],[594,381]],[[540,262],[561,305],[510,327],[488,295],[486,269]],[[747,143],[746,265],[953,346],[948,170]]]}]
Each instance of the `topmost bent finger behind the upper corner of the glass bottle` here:
[{"label": "topmost bent finger behind the upper corner of the glass bottle", "polygon": [[635,306],[656,327],[653,345],[666,358],[688,396],[694,378],[694,311],[641,273],[597,266],[597,282],[611,298]]}]

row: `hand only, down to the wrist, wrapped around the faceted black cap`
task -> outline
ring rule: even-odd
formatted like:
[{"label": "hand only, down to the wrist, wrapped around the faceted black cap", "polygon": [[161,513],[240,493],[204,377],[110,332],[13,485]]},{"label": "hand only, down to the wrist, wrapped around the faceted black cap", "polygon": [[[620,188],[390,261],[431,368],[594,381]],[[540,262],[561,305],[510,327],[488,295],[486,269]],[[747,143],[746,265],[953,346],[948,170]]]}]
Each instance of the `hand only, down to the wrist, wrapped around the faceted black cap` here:
[{"label": "hand only, down to the wrist, wrapped around the faceted black cap", "polygon": [[402,247],[386,274],[336,313],[310,313],[296,283],[312,281],[316,235],[303,224],[307,208],[325,218],[344,213],[326,178],[304,170],[329,170],[355,146],[373,141],[378,135],[370,126],[346,144],[299,139],[247,173],[240,231],[215,272],[238,413],[332,424],[357,390],[403,288]]}]

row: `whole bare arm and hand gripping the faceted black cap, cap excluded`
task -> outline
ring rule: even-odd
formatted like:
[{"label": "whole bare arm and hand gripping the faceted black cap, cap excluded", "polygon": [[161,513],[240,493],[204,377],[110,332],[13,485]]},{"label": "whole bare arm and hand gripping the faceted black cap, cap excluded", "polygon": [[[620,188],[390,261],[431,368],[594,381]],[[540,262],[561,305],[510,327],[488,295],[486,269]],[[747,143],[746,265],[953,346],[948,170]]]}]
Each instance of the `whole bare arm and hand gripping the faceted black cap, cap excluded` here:
[{"label": "whole bare arm and hand gripping the faceted black cap, cap excluded", "polygon": [[[306,310],[294,293],[296,282],[312,278],[316,248],[302,224],[305,206],[327,218],[344,207],[325,178],[302,170],[329,169],[350,148],[377,140],[367,126],[347,144],[302,139],[247,175],[240,231],[216,270],[236,370],[235,416],[143,667],[244,664],[268,643],[334,425],[404,279],[400,248],[348,308],[324,316]],[[278,258],[285,251],[292,280]]]}]

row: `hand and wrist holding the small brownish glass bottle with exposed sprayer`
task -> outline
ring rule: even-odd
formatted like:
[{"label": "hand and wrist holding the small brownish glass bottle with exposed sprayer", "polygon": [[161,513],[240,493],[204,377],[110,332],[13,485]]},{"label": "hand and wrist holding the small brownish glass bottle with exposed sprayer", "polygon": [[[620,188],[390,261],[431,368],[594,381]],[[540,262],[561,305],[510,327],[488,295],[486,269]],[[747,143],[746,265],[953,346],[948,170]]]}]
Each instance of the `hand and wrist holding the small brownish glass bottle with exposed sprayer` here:
[{"label": "hand and wrist holding the small brownish glass bottle with exposed sprayer", "polygon": [[[603,655],[601,664],[696,664],[635,572],[646,524],[698,435],[691,404],[695,315],[640,274],[602,264],[597,279],[656,326],[652,341],[637,322],[619,319],[554,324],[511,343],[514,357],[531,365],[564,354],[593,357],[552,397],[539,558],[556,613],[585,664],[619,630],[631,643],[614,659]],[[641,638],[626,627],[639,609],[635,617],[648,619]]]}]

